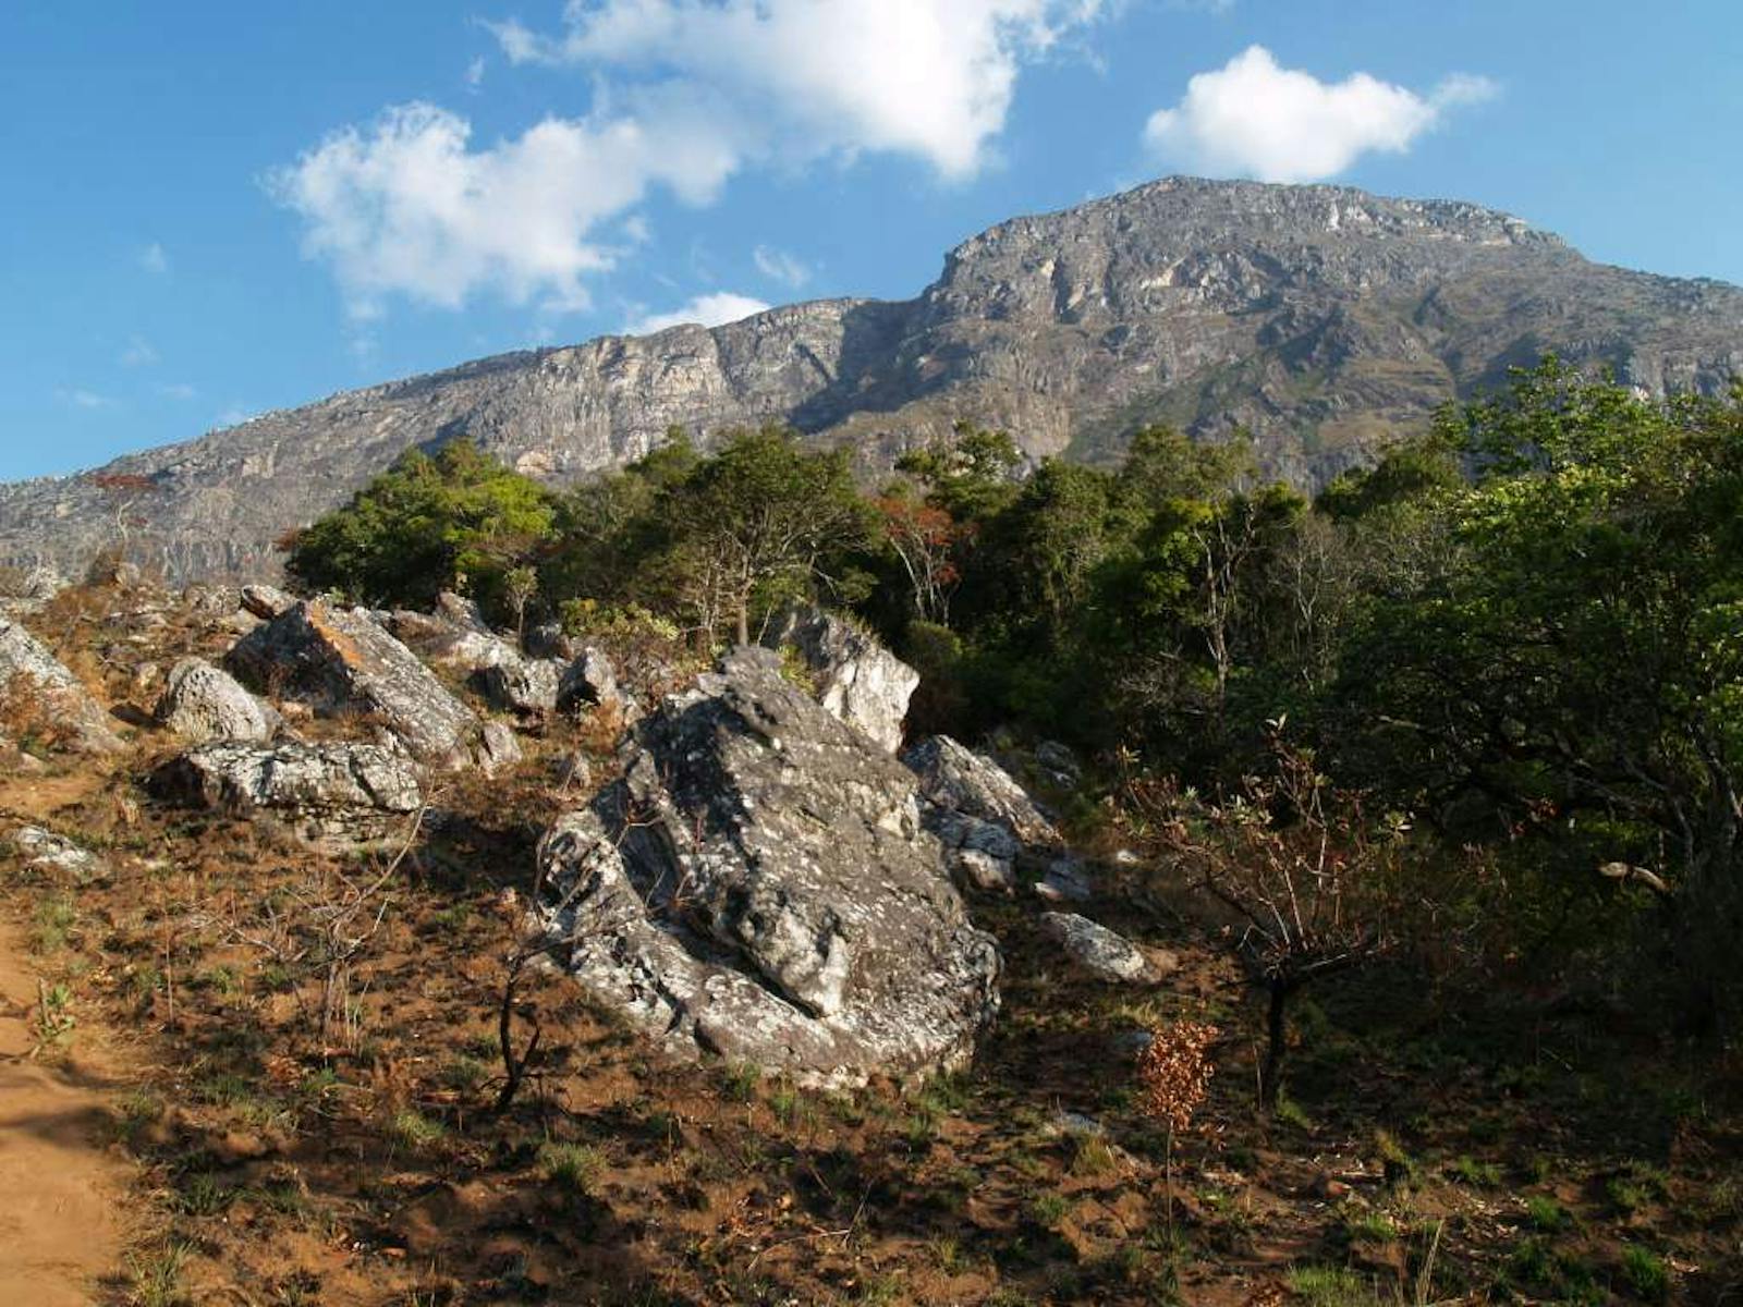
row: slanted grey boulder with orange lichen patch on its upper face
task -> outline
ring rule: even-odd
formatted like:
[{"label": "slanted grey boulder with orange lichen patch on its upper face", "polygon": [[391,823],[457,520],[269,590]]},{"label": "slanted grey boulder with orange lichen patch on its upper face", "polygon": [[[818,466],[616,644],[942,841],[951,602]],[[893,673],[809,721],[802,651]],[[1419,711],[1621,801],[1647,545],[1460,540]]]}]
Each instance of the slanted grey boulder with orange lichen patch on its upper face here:
[{"label": "slanted grey boulder with orange lichen patch on its upper face", "polygon": [[375,716],[420,762],[471,762],[478,716],[363,610],[309,599],[242,636],[225,657],[258,690],[326,714]]}]

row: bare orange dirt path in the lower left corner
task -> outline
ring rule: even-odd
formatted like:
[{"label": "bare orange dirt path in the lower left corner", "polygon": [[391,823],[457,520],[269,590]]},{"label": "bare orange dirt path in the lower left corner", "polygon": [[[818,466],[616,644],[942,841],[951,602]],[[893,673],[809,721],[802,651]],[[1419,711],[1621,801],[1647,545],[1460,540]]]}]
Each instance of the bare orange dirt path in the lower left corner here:
[{"label": "bare orange dirt path in the lower left corner", "polygon": [[110,1148],[112,1067],[80,1028],[70,1058],[31,1058],[37,976],[0,922],[0,1304],[99,1302],[124,1239],[127,1164]]}]

